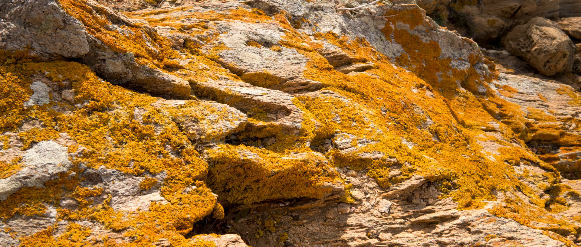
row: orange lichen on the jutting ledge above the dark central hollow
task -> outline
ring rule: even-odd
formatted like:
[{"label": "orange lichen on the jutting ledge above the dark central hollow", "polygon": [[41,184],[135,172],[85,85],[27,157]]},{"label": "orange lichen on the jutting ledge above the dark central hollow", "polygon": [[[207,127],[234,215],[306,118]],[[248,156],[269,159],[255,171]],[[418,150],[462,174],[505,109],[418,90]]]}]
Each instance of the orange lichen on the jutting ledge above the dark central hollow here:
[{"label": "orange lichen on the jutting ledge above the dark central hollow", "polygon": [[214,192],[230,202],[252,204],[271,198],[321,198],[328,192],[321,184],[332,181],[322,173],[330,167],[313,154],[285,158],[254,147],[220,147],[208,150],[211,166],[207,181]]}]

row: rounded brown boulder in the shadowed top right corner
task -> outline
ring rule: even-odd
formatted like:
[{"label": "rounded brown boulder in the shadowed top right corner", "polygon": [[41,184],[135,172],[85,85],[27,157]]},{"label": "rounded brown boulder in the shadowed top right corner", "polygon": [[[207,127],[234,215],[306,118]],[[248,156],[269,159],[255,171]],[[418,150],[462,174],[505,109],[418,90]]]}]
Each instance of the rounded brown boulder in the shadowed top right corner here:
[{"label": "rounded brown boulder in the shadowed top right corner", "polygon": [[535,17],[508,32],[503,44],[508,52],[522,57],[541,74],[550,76],[572,70],[576,48],[551,20]]}]

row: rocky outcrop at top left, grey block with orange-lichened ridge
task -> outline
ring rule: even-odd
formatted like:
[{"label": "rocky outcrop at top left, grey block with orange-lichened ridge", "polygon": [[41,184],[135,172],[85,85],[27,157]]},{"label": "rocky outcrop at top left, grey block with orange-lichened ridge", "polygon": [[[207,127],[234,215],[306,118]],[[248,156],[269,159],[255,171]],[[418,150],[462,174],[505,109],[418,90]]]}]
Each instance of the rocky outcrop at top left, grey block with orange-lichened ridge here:
[{"label": "rocky outcrop at top left, grey block with orange-lichened ridge", "polygon": [[[82,10],[78,9],[81,4]],[[0,49],[19,51],[16,53],[19,57],[41,60],[80,57],[115,84],[177,99],[191,98],[187,81],[160,70],[163,66],[159,63],[171,55],[160,53],[167,44],[156,42],[159,35],[144,23],[96,2],[4,2],[0,5],[0,20],[3,27]],[[158,66],[153,61],[143,63],[145,58],[154,59]]]}]

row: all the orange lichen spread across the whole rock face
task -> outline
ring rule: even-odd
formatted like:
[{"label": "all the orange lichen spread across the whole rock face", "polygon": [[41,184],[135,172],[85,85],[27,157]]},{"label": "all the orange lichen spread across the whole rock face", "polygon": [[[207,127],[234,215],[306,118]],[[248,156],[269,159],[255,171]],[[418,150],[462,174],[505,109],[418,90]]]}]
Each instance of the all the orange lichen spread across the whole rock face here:
[{"label": "all the orange lichen spread across the whole rock face", "polygon": [[[178,55],[177,51],[169,48],[167,39],[142,30],[139,24],[123,27],[123,30],[134,34],[125,37],[121,32],[106,30],[103,26],[109,25],[108,20],[94,13],[95,9],[89,8],[83,1],[61,2],[69,14],[87,26],[89,33],[112,49],[133,53],[141,64],[178,68],[173,74],[187,79],[192,85],[221,78],[242,79],[265,88],[277,82],[278,78],[266,72],[243,74],[242,78],[238,78],[226,69],[228,64],[218,64],[219,53],[228,49],[224,44],[213,45],[203,53],[199,44],[186,42],[181,50],[185,55]],[[364,38],[352,39],[328,32],[315,34],[313,41],[295,30],[285,13],[271,18],[261,10],[242,8],[222,13],[187,10],[190,9],[175,9],[183,15],[170,16],[170,12],[163,10],[141,13],[141,17],[150,21],[152,26],[166,23],[171,26],[177,18],[195,17],[210,21],[269,21],[286,29],[279,45],[296,49],[306,56],[309,62],[303,77],[320,81],[327,87],[320,92],[321,95],[301,95],[292,100],[304,112],[299,135],[281,134],[279,126],[266,123],[271,119],[264,110],[251,108],[247,112],[250,124],[264,124],[266,127],[252,133],[239,133],[238,137],[274,136],[277,142],[264,149],[221,144],[205,150],[208,164],[195,150],[195,142],[220,139],[222,136],[219,133],[198,136],[181,129],[180,125],[185,123],[185,119],[201,121],[203,115],[197,112],[210,107],[197,101],[186,101],[181,107],[160,107],[156,98],[110,85],[96,77],[88,67],[74,62],[6,64],[0,67],[0,81],[3,82],[0,83],[0,96],[3,96],[2,99],[13,99],[0,101],[0,113],[3,115],[0,127],[3,131],[16,130],[25,119],[34,119],[46,126],[20,133],[27,144],[25,149],[32,143],[55,139],[59,133],[67,133],[78,145],[87,148],[81,157],[76,158],[76,164],[83,162],[94,169],[105,166],[134,176],[165,171],[167,177],[160,183],[160,193],[166,202],[153,202],[147,210],[127,212],[113,210],[110,196],[95,205],[95,197],[105,196],[102,188],[81,187],[78,175],[72,172],[61,174],[58,180],[47,182],[44,188],[23,188],[0,202],[0,217],[41,215],[46,210],[46,204],[58,207],[61,198],[70,197],[79,206],[77,209],[58,208],[60,220],[92,220],[107,229],[123,231],[124,237],[132,239],[124,243],[125,246],[149,246],[160,238],[170,239],[173,246],[207,246],[211,242],[192,243],[182,235],[191,231],[193,223],[203,217],[224,217],[224,209],[217,204],[212,192],[218,194],[221,200],[242,204],[267,199],[321,198],[330,190],[322,189],[325,183],[339,181],[332,166],[350,166],[354,170],[367,169],[367,175],[374,177],[383,187],[400,183],[414,174],[424,176],[441,184],[439,188],[445,192],[441,198],[453,197],[459,209],[481,208],[485,205],[484,201],[496,199],[495,192],[510,195],[518,191],[528,200],[519,197],[507,199],[506,205],[497,205],[490,211],[529,226],[532,226],[531,221],[551,224],[542,229],[555,233],[579,233],[580,229],[566,220],[543,217],[546,212],[564,209],[565,205],[559,197],[562,193],[557,193],[555,188],[559,196],[541,199],[533,188],[521,181],[523,178],[535,179],[538,181],[537,187],[542,189],[558,183],[557,170],[523,148],[526,147],[525,141],[532,138],[572,143],[575,136],[567,136],[558,129],[560,126],[542,122],[533,125],[524,118],[525,114],[519,106],[489,93],[487,82],[492,81],[494,73],[488,76],[478,74],[474,65],[478,62],[489,63],[478,53],[457,59],[467,62],[468,69],[453,68],[450,66],[453,59],[440,58],[442,49],[439,43],[424,41],[406,29],[397,28],[401,24],[410,30],[424,28],[426,34],[439,28],[432,27],[426,21],[423,10],[415,8],[388,12],[397,16],[386,18],[382,31],[387,42],[396,42],[405,52],[395,61],[390,61],[372,48]],[[174,27],[181,28],[178,30],[180,32],[194,27],[202,28],[200,32],[209,29],[199,26],[205,24],[196,25],[175,24]],[[213,41],[213,38],[206,41]],[[320,41],[323,40],[355,57],[354,62],[372,61],[375,67],[350,75],[336,71],[317,52],[322,49]],[[155,45],[160,52],[149,49],[148,44]],[[181,64],[172,60],[177,57],[187,57],[189,62]],[[4,60],[9,61],[8,58]],[[32,93],[29,85],[33,75],[57,82],[70,82],[77,92],[76,101],[83,102],[82,107],[64,104],[62,107],[71,114],[63,114],[50,106],[24,108],[23,102]],[[485,90],[482,91],[482,88]],[[516,93],[511,88],[505,87],[504,90]],[[572,98],[570,104],[577,104],[575,100],[578,95],[575,92],[566,89],[559,92]],[[198,86],[196,93],[229,104],[241,97],[203,86]],[[55,103],[49,105],[52,104]],[[137,113],[136,109],[145,113]],[[216,112],[217,115],[220,113]],[[528,117],[536,121],[551,119],[550,115],[535,110],[529,110]],[[245,128],[245,125],[239,128]],[[486,135],[490,131],[499,136]],[[330,150],[325,152],[324,157],[314,154],[311,148],[322,148],[326,139],[335,142],[350,139],[345,143],[349,143],[352,149]],[[496,150],[498,154],[483,154],[486,150],[479,140],[497,143],[501,146]],[[260,140],[254,143],[260,143]],[[254,143],[250,141],[250,144]],[[69,148],[74,150],[74,147]],[[179,155],[171,152],[178,152]],[[381,158],[366,156],[377,152]],[[554,155],[549,158],[554,159]],[[401,175],[390,177],[390,170],[396,164],[401,166]],[[514,167],[521,164],[538,165],[550,172],[531,178],[533,176],[528,170],[522,174],[515,172]],[[78,174],[81,170],[74,172]],[[71,179],[66,179],[69,176]],[[143,181],[139,184],[143,190],[149,190],[158,182],[148,176]],[[353,202],[349,195],[350,187],[350,184],[345,187],[345,202]],[[264,221],[264,227],[275,231],[272,220]],[[60,237],[55,240],[52,234],[53,229],[48,228],[21,238],[21,241],[27,245],[49,243],[58,246]],[[85,228],[71,224],[61,237],[63,241],[82,243],[87,234],[90,233]],[[263,231],[259,230],[257,238],[262,234]],[[547,235],[551,236],[551,233]],[[103,243],[111,244],[106,240]]]}]

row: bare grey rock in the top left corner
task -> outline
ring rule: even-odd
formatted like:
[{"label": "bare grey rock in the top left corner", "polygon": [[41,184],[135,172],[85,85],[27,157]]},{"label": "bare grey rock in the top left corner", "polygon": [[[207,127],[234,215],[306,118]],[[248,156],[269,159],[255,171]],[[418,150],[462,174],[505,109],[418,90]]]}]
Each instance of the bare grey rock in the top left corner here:
[{"label": "bare grey rock in the top left corner", "polygon": [[87,55],[83,23],[67,14],[58,1],[16,0],[0,3],[0,49],[28,50],[43,60]]}]

